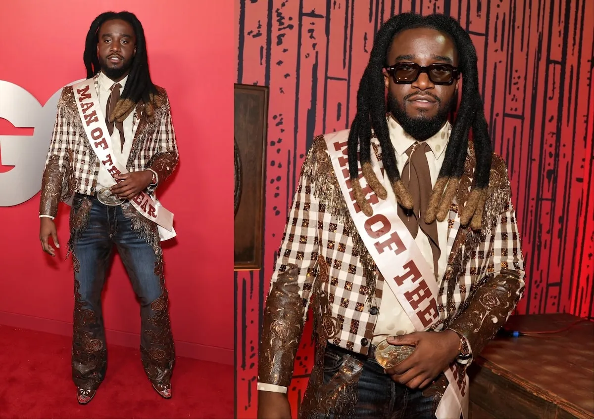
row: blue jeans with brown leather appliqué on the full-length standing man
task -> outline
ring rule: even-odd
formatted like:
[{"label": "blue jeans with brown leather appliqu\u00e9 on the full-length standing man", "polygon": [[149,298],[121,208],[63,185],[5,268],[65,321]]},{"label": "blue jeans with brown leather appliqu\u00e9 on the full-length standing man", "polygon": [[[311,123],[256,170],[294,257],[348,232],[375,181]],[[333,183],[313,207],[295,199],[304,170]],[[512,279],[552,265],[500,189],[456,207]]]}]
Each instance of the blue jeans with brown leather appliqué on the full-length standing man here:
[{"label": "blue jeans with brown leather appliqu\u00e9 on the full-length standing man", "polygon": [[70,231],[75,298],[74,382],[84,389],[96,389],[105,378],[107,349],[101,293],[115,245],[140,300],[140,351],[144,370],[151,382],[168,384],[175,348],[156,224],[141,216],[128,201],[121,206],[106,206],[95,197],[76,194]]}]

